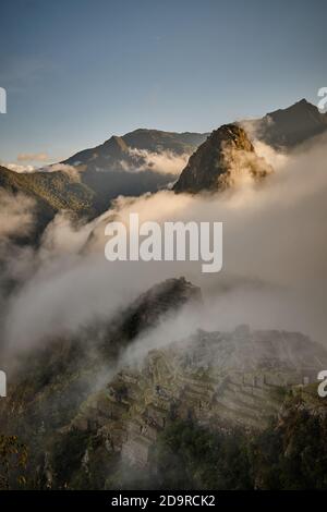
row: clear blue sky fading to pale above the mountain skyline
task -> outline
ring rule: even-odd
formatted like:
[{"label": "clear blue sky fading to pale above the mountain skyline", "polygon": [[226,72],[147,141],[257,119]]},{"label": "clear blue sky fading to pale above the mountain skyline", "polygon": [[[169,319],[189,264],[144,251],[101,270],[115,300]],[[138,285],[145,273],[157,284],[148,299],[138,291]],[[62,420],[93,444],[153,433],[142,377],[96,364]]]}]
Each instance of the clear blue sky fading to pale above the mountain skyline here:
[{"label": "clear blue sky fading to pale above the mountain skyline", "polygon": [[0,161],[316,105],[326,14],[326,0],[1,0]]}]

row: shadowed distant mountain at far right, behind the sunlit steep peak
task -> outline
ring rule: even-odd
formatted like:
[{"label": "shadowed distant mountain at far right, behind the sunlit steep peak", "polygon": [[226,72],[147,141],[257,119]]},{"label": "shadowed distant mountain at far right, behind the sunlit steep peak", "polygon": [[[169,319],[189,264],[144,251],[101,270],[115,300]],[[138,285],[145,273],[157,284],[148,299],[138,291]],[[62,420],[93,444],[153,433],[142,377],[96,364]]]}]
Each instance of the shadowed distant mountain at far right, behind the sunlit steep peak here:
[{"label": "shadowed distant mountain at far right, behind the sunlit steep peak", "polygon": [[292,148],[327,131],[327,113],[301,99],[287,109],[275,110],[264,118],[241,122],[254,130],[257,138],[275,148]]}]

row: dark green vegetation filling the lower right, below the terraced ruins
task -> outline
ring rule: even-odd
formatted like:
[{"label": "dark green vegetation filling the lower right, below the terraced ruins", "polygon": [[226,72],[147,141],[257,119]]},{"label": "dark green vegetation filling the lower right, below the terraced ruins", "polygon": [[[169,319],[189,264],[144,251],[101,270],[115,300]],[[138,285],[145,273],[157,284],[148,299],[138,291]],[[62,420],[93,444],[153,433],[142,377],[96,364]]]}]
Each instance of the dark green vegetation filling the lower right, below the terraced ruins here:
[{"label": "dark green vegetation filling the lower right, below the terraced ruins", "polygon": [[327,423],[301,406],[251,436],[177,422],[152,464],[162,489],[327,489]]}]

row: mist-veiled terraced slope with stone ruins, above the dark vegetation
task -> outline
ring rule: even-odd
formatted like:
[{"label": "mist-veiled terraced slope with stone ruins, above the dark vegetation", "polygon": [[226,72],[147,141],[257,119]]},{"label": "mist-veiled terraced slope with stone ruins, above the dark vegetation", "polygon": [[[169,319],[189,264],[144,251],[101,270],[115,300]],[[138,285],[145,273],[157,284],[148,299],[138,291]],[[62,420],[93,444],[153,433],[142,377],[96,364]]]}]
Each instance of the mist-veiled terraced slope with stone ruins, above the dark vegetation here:
[{"label": "mist-veiled terraced slope with stone ruins, above the dark vegetation", "polygon": [[[174,418],[192,418],[209,429],[264,430],[287,390],[315,381],[326,363],[327,352],[300,333],[252,332],[245,327],[230,333],[199,331],[149,352],[141,371],[123,368],[72,425],[85,429],[97,404],[102,414],[97,432],[124,459],[144,466],[157,436]],[[124,414],[119,416],[122,405]],[[119,431],[120,437],[111,439],[111,432]]]}]

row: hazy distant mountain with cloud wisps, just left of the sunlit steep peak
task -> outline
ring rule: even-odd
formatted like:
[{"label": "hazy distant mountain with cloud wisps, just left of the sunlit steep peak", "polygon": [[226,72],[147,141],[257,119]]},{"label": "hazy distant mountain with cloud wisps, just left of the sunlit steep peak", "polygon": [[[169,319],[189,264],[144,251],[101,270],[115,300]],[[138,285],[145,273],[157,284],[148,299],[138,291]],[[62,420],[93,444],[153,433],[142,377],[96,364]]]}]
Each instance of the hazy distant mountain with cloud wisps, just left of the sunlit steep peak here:
[{"label": "hazy distant mountain with cloud wisps, just left of the sunlit steep peak", "polygon": [[[94,191],[98,214],[110,206],[119,195],[140,196],[157,192],[175,180],[158,156],[175,162],[182,170],[184,161],[205,141],[207,134],[174,133],[158,130],[135,130],[122,137],[112,136],[104,144],[80,151],[64,160],[80,172],[82,182]],[[179,168],[180,166],[180,168]]]}]

